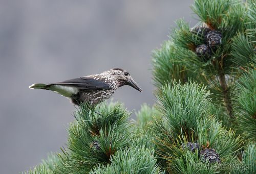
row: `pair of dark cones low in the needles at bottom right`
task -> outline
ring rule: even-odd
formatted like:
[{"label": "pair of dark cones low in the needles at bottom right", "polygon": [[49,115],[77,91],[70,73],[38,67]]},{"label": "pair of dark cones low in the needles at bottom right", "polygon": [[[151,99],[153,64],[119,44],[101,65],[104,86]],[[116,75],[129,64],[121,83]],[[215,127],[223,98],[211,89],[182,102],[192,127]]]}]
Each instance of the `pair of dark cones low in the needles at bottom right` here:
[{"label": "pair of dark cones low in the needles at bottom right", "polygon": [[182,143],[181,147],[183,149],[188,149],[191,152],[196,152],[196,149],[198,149],[199,153],[199,157],[203,160],[203,161],[209,161],[209,163],[214,163],[214,162],[218,162],[221,163],[221,159],[220,156],[217,152],[215,152],[215,150],[213,148],[205,148],[204,150],[200,151],[200,146],[198,143],[192,143],[192,142],[187,142],[186,144]]}]

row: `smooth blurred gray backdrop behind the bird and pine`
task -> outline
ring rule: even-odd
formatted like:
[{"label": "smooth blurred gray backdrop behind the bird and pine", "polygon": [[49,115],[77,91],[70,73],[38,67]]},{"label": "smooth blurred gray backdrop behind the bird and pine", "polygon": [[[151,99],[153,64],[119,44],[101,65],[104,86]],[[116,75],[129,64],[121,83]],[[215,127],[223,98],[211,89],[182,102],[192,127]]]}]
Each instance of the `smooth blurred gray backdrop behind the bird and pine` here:
[{"label": "smooth blurred gray backdrop behind the bird and pine", "polygon": [[152,49],[168,39],[175,20],[196,24],[192,3],[0,0],[0,173],[28,170],[65,146],[74,106],[51,91],[29,89],[32,83],[121,67],[143,92],[124,86],[114,101],[129,110],[152,105]]}]

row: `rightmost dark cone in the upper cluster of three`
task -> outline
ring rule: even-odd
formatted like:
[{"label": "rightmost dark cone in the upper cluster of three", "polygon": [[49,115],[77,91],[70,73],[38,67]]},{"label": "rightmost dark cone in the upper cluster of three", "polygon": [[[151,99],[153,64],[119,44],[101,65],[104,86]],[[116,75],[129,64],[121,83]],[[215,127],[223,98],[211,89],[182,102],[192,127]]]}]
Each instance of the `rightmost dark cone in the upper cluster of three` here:
[{"label": "rightmost dark cone in the upper cluster of three", "polygon": [[211,30],[205,35],[205,42],[211,49],[217,49],[221,44],[222,34],[219,31]]}]

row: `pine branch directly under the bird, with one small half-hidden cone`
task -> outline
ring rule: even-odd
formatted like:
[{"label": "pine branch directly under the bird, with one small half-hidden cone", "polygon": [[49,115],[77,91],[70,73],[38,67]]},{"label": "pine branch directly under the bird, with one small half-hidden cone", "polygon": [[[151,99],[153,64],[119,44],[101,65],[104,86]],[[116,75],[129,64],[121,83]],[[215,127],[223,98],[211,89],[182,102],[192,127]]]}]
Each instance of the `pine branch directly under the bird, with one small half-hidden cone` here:
[{"label": "pine branch directly under the bird, with one small half-hidden cone", "polygon": [[56,173],[84,173],[109,163],[111,156],[129,145],[132,138],[129,116],[120,104],[81,105],[75,113],[77,122],[68,131],[67,150],[59,154]]}]

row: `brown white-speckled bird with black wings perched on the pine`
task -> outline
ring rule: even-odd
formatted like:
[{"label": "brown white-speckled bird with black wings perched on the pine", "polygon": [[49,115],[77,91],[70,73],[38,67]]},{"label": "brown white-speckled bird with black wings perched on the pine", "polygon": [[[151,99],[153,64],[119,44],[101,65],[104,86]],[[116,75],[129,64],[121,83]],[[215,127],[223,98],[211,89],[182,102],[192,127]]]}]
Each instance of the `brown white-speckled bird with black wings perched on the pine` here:
[{"label": "brown white-speckled bird with black wings perched on the pine", "polygon": [[92,74],[57,83],[36,83],[31,89],[51,90],[70,98],[74,105],[87,103],[97,105],[109,99],[117,88],[129,85],[142,92],[130,73],[122,68],[113,68],[99,74]]}]

